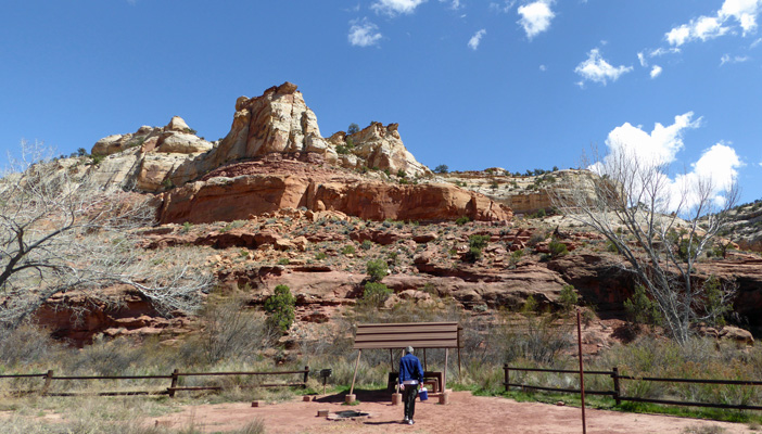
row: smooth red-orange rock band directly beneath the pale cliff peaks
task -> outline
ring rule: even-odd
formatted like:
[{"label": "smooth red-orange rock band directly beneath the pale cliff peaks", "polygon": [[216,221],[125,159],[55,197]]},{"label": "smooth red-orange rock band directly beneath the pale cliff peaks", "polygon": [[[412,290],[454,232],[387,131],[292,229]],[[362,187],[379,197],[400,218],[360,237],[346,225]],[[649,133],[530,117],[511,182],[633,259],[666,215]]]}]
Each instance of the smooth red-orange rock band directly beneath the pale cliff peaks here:
[{"label": "smooth red-orange rock band directly beneath the pale cliff peaks", "polygon": [[508,221],[512,213],[482,194],[450,184],[394,184],[313,163],[269,155],[208,174],[163,194],[160,220],[247,219],[282,208],[336,210],[369,220]]}]

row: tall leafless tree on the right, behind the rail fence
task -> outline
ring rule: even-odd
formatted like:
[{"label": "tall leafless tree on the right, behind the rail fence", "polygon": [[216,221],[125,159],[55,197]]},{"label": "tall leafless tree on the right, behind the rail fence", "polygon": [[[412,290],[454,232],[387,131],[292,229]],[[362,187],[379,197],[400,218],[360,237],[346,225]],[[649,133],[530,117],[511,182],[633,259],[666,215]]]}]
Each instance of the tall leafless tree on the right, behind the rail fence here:
[{"label": "tall leafless tree on the right, behind the rail fence", "polygon": [[725,225],[738,199],[737,184],[725,189],[719,205],[712,179],[683,176],[672,182],[664,164],[623,150],[589,163],[583,157],[582,167],[593,169],[587,176],[549,190],[554,205],[617,247],[625,259],[622,267],[656,303],[665,331],[687,342],[691,324],[715,317],[732,296],[734,286],[725,285],[721,303],[716,294],[708,303],[696,265]]}]

